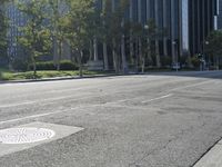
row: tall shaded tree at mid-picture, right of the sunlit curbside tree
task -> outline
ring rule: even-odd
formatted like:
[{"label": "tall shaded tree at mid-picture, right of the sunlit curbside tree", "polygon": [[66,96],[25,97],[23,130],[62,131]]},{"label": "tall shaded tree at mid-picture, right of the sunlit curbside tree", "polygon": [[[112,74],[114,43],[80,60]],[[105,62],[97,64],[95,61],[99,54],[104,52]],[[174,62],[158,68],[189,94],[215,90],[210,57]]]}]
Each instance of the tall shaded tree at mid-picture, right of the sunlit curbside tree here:
[{"label": "tall shaded tree at mid-picture, right of the sunlit curbside tree", "polygon": [[103,39],[112,49],[113,66],[117,73],[120,72],[121,60],[122,71],[124,72],[127,68],[124,51],[124,13],[128,4],[128,0],[120,0],[119,3],[117,3],[117,1],[105,0],[102,11],[104,28]]}]

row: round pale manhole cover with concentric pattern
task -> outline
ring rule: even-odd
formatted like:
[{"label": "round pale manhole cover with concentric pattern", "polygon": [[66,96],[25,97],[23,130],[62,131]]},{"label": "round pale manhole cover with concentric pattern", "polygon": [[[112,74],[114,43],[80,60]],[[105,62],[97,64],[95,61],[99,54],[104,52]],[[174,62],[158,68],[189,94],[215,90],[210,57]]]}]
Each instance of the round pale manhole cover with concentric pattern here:
[{"label": "round pale manhole cover with concentric pattern", "polygon": [[1,144],[31,144],[52,138],[56,135],[53,130],[44,128],[11,128],[0,130]]}]

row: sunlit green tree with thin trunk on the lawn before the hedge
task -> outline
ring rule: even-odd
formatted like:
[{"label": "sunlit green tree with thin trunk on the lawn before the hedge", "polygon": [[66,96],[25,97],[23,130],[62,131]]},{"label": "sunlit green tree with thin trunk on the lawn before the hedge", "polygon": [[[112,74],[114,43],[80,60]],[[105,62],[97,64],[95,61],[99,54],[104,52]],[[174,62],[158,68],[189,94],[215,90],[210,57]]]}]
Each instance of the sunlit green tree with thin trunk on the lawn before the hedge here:
[{"label": "sunlit green tree with thin trunk on the lawn before the hedge", "polygon": [[27,17],[27,23],[20,27],[22,36],[19,42],[27,48],[33,66],[33,75],[37,76],[37,58],[49,52],[51,47],[50,31],[46,28],[47,0],[29,0],[18,2],[18,9]]}]

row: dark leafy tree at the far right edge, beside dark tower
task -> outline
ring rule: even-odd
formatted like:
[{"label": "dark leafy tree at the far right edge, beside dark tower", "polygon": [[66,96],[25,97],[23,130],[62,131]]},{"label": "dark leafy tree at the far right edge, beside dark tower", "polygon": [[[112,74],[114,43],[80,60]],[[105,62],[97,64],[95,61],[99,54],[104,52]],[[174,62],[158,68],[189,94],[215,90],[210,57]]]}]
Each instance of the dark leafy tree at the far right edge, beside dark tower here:
[{"label": "dark leafy tree at the far right edge, beside dark tower", "polygon": [[213,59],[214,65],[219,67],[219,61],[222,58],[222,31],[212,31],[204,42],[205,52]]}]

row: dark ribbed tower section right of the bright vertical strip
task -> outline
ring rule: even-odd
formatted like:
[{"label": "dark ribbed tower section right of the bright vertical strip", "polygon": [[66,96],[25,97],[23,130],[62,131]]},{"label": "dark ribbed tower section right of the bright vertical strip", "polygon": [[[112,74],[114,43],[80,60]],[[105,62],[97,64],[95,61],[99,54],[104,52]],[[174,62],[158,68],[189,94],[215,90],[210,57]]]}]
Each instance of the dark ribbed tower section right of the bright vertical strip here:
[{"label": "dark ribbed tower section right of the bright vertical strip", "polygon": [[189,0],[190,52],[203,50],[205,38],[218,29],[218,0]]}]

